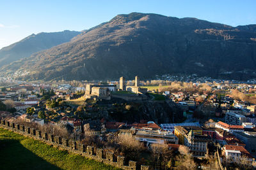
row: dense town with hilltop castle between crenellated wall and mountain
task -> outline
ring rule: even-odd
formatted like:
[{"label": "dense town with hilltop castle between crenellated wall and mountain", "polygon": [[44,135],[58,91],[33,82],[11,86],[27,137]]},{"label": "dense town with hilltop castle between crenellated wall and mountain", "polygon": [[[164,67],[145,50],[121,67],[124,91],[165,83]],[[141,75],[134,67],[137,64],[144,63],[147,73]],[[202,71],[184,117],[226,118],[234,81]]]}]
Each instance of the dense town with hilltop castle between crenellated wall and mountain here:
[{"label": "dense town with hilltop castle between crenellated wall and mountain", "polygon": [[2,120],[155,169],[256,167],[256,86],[230,81],[1,81]]}]

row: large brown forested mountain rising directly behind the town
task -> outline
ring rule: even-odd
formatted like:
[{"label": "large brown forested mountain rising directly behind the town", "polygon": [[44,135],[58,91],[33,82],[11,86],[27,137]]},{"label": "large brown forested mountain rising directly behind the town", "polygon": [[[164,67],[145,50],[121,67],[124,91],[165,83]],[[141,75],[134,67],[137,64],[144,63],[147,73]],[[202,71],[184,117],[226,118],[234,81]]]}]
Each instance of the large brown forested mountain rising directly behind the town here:
[{"label": "large brown forested mountain rising directly behind the town", "polygon": [[22,80],[145,79],[166,73],[246,80],[256,75],[255,25],[232,27],[152,13],[117,15],[0,71],[22,73]]}]

